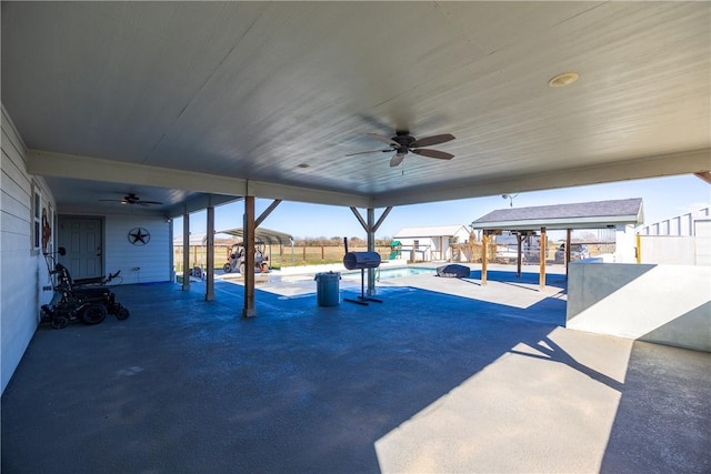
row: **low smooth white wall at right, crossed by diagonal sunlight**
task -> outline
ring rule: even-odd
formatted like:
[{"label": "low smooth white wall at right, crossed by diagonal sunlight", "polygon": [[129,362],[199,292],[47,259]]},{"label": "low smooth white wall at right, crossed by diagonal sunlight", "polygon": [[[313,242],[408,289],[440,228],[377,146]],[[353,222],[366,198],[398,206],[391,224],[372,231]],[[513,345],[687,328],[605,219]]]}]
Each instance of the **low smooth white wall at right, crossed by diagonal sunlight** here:
[{"label": "low smooth white wall at right, crossed by diagonal sunlight", "polygon": [[567,327],[711,352],[711,268],[571,263]]}]

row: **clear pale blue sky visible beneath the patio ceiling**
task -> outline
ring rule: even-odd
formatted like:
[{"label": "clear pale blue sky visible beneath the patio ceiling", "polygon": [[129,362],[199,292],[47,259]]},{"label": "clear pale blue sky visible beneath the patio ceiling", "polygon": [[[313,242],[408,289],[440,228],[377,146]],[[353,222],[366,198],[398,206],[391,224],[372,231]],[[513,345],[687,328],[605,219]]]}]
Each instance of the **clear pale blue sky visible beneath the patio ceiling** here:
[{"label": "clear pale blue sky visible beneath the patio ceiling", "polygon": [[[711,185],[694,175],[655,178],[565,188],[550,191],[522,192],[513,199],[514,208],[642,198],[644,222],[650,224],[685,212],[711,205]],[[259,215],[271,200],[258,199]],[[394,235],[400,229],[423,225],[468,225],[473,220],[509,206],[501,195],[395,206],[382,223],[377,238]],[[364,214],[361,210],[361,215]],[[216,208],[216,230],[242,226],[243,203]],[[382,213],[375,210],[375,219]],[[263,228],[289,233],[294,238],[358,236],[365,232],[349,208],[282,202],[262,223]],[[206,213],[190,216],[190,231],[206,231]],[[182,219],[173,221],[174,236],[182,235]]]}]

